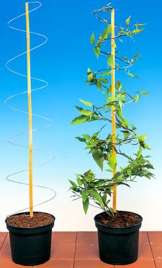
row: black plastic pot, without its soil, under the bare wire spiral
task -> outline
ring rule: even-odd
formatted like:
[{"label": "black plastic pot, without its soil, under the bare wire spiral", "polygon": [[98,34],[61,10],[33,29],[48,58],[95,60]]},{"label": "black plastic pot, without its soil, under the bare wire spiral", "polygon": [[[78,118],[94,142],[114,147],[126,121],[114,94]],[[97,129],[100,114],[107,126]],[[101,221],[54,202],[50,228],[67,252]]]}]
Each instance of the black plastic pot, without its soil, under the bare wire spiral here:
[{"label": "black plastic pot, without its soil, under the bare wire spiral", "polygon": [[[29,214],[29,212],[27,212]],[[25,212],[25,214],[27,214]],[[22,214],[22,213],[19,213]],[[14,214],[14,216],[19,215]],[[51,215],[51,214],[50,214]],[[12,260],[19,265],[40,265],[50,258],[51,229],[54,220],[42,227],[14,227],[5,223],[10,234]]]}]

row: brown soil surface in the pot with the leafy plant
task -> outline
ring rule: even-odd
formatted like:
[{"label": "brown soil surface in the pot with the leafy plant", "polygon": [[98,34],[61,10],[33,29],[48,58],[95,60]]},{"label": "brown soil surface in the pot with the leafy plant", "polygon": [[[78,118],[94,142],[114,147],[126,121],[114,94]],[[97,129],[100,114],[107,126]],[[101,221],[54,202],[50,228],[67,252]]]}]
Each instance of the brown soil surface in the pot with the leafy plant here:
[{"label": "brown soil surface in the pot with the leafy plant", "polygon": [[117,211],[115,217],[109,216],[106,212],[102,212],[97,216],[97,222],[109,227],[128,227],[139,223],[141,218],[132,212]]}]

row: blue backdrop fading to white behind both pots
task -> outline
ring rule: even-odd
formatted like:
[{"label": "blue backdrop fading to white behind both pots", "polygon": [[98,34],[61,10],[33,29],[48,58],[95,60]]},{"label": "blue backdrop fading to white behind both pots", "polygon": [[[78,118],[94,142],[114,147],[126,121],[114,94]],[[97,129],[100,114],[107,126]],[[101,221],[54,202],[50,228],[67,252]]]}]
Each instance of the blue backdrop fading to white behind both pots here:
[{"label": "blue backdrop fading to white behind both pots", "polygon": [[[72,215],[76,213],[78,207],[69,200],[67,189],[68,178],[74,178],[74,174],[85,172],[91,168],[95,174],[105,176],[95,165],[91,155],[86,154],[83,150],[83,144],[75,139],[81,134],[91,134],[96,132],[102,125],[99,123],[86,123],[82,125],[71,126],[69,123],[78,115],[75,105],[80,105],[79,99],[91,101],[93,103],[103,103],[104,95],[95,87],[86,86],[86,70],[98,70],[106,64],[106,60],[101,56],[96,59],[93,53],[93,47],[89,42],[89,37],[94,31],[100,34],[103,26],[96,21],[91,11],[105,6],[106,1],[41,1],[42,6],[30,15],[30,30],[45,34],[48,42],[38,50],[31,53],[31,72],[32,76],[45,79],[49,86],[45,90],[40,90],[32,94],[33,112],[42,116],[47,116],[53,121],[53,125],[47,130],[34,133],[34,147],[40,147],[50,150],[55,154],[53,163],[40,167],[34,171],[34,183],[53,187],[57,191],[56,200],[46,205],[44,210],[51,211],[58,218],[62,214],[58,209],[60,206]],[[152,163],[154,164],[157,181],[149,182],[146,179],[141,180],[130,189],[121,189],[119,192],[119,209],[131,209],[141,214],[146,214],[149,219],[150,207],[157,207],[157,216],[159,205],[161,203],[160,189],[161,183],[161,1],[154,1],[154,6],[148,5],[148,1],[112,1],[112,5],[117,8],[115,12],[115,21],[119,25],[124,25],[124,21],[131,14],[131,23],[147,23],[146,30],[135,37],[135,43],[129,39],[124,39],[124,43],[117,43],[117,50],[126,56],[132,56],[141,53],[142,57],[133,65],[130,72],[139,74],[138,79],[132,79],[126,74],[116,73],[116,79],[121,79],[125,88],[130,92],[134,90],[146,90],[150,92],[148,97],[143,96],[139,103],[127,105],[125,116],[128,121],[137,126],[139,134],[148,135],[148,145],[152,151]],[[27,81],[21,76],[17,76],[5,69],[5,62],[13,56],[26,50],[25,33],[16,32],[8,27],[7,22],[13,17],[25,12],[25,1],[7,1],[2,4],[1,8],[1,189],[11,197],[6,200],[5,194],[1,196],[1,203],[4,209],[2,214],[15,212],[23,207],[27,207],[28,196],[27,188],[13,185],[5,182],[5,176],[12,172],[19,171],[27,167],[27,150],[14,147],[5,142],[5,138],[12,134],[24,132],[27,130],[27,116],[9,110],[4,105],[4,100],[27,88]],[[36,4],[30,4],[30,9]],[[109,16],[108,13],[105,16]],[[25,29],[25,17],[13,23],[17,28]],[[31,36],[31,47],[40,43],[42,39]],[[110,48],[110,47],[109,47]],[[22,56],[14,61],[11,65],[14,70],[26,73],[26,58]],[[40,83],[33,83],[32,87],[39,86]],[[21,96],[13,99],[10,104],[14,107],[27,110],[27,96]],[[34,127],[42,127],[45,121],[33,119]],[[110,132],[111,128],[106,127],[103,132]],[[27,136],[15,141],[27,144]],[[130,153],[134,153],[130,149]],[[46,154],[34,152],[34,164],[48,160]],[[27,181],[27,174],[16,177],[20,181]],[[147,191],[146,191],[147,189]],[[143,194],[144,200],[148,205],[141,206],[143,198],[137,198]],[[35,202],[41,198],[47,199],[48,193],[35,191]],[[26,194],[26,198],[24,198]],[[134,196],[132,201],[124,199],[126,194],[128,198]],[[23,198],[23,199],[22,199]],[[44,200],[43,199],[43,200]],[[81,203],[81,202],[80,202]],[[132,205],[129,207],[128,203]],[[12,205],[10,205],[12,204]],[[127,204],[127,205],[126,205]],[[81,205],[79,204],[81,207]],[[40,210],[43,210],[41,207]],[[86,217],[91,226],[90,214]],[[72,217],[72,216],[71,216]],[[84,219],[84,214],[82,214]],[[161,219],[159,219],[161,220]],[[83,222],[83,220],[81,220]],[[58,220],[59,223],[59,220]],[[61,223],[60,223],[60,226]],[[151,225],[145,223],[146,229],[151,229]],[[158,229],[160,225],[152,229]],[[80,220],[76,222],[76,229],[82,229]],[[71,227],[71,228],[75,228]],[[62,226],[62,229],[64,227]],[[69,225],[67,229],[70,229]],[[86,227],[84,227],[86,229]],[[59,227],[58,227],[59,229]],[[60,227],[61,229],[61,227]]]}]

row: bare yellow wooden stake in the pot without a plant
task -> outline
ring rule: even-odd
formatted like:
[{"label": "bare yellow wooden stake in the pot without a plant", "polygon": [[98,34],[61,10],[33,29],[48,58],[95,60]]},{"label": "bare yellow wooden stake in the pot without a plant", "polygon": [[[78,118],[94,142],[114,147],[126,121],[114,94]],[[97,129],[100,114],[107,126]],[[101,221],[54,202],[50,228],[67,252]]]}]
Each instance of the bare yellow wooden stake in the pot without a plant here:
[{"label": "bare yellow wooden stake in the pot without a plant", "polygon": [[26,37],[27,37],[27,98],[29,114],[29,185],[30,185],[30,217],[33,216],[33,182],[32,182],[32,96],[30,76],[30,18],[28,3],[25,3],[26,10]]}]

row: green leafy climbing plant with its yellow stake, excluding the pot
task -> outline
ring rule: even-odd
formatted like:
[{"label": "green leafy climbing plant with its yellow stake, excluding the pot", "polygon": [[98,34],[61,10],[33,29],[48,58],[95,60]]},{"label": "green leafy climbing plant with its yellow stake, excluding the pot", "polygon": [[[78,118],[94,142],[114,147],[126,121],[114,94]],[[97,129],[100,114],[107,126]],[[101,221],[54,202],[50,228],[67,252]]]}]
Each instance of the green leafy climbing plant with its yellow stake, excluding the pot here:
[{"label": "green leafy climbing plant with its yellow stake, excluding the pot", "polygon": [[[111,23],[107,19],[100,17],[100,14],[106,14],[111,11]],[[102,94],[105,94],[105,103],[97,106],[90,101],[80,102],[83,107],[76,106],[80,113],[79,116],[73,119],[71,125],[103,121],[104,125],[100,130],[93,135],[83,134],[76,137],[78,141],[85,143],[84,149],[89,150],[92,154],[95,163],[108,172],[108,178],[97,178],[89,169],[84,174],[77,174],[76,182],[69,180],[71,183],[71,191],[75,198],[82,198],[84,212],[86,214],[91,201],[95,202],[97,207],[100,207],[109,216],[116,215],[115,205],[110,206],[111,197],[115,195],[115,188],[118,185],[126,185],[129,187],[130,182],[135,182],[137,177],[152,178],[154,174],[150,169],[154,167],[148,160],[150,156],[144,156],[143,151],[150,150],[146,144],[147,136],[138,135],[135,125],[128,122],[123,114],[123,107],[127,103],[137,103],[141,95],[148,95],[146,91],[136,91],[135,96],[122,87],[122,81],[117,80],[115,83],[115,71],[122,70],[128,76],[135,79],[137,75],[132,74],[129,68],[135,63],[141,54],[135,54],[132,59],[126,56],[118,56],[116,50],[115,39],[123,42],[123,38],[130,37],[133,40],[136,34],[142,32],[145,23],[137,23],[134,28],[130,28],[130,17],[126,19],[125,26],[121,27],[117,24],[113,25],[112,14],[114,8],[108,4],[106,7],[95,10],[93,14],[102,24],[106,25],[99,39],[96,39],[95,33],[91,34],[90,42],[93,45],[93,50],[97,59],[104,55],[106,59],[106,68],[101,68],[97,71],[92,71],[88,68],[86,82],[88,85],[94,85]],[[111,41],[111,52],[102,50],[106,42]],[[108,79],[108,76],[111,79]],[[111,80],[111,83],[109,82]],[[107,134],[105,138],[101,138],[100,134],[103,128],[111,124],[112,132]],[[117,130],[117,134],[115,134]],[[137,146],[137,152],[134,156],[129,156],[124,152],[123,145]],[[117,166],[117,155],[123,156],[128,161],[124,167]]]}]

